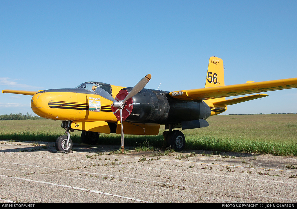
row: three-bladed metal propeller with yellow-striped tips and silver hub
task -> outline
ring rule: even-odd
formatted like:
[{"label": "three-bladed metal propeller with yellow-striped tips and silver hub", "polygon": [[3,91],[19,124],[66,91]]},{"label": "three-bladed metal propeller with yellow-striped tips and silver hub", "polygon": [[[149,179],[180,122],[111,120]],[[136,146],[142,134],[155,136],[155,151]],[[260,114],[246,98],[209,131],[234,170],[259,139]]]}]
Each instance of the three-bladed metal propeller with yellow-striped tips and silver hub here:
[{"label": "three-bladed metal propeller with yellow-striped tips and silver hub", "polygon": [[97,86],[93,86],[93,91],[98,94],[99,96],[108,99],[112,101],[112,106],[114,108],[117,108],[120,111],[120,121],[121,121],[121,151],[124,153],[124,131],[123,131],[123,109],[125,107],[125,102],[129,100],[131,97],[136,95],[138,92],[140,92],[146,84],[151,79],[151,74],[147,74],[145,77],[143,77],[129,92],[129,94],[123,99],[123,100],[116,100],[113,98],[108,92],[106,92],[104,89],[98,88]]}]

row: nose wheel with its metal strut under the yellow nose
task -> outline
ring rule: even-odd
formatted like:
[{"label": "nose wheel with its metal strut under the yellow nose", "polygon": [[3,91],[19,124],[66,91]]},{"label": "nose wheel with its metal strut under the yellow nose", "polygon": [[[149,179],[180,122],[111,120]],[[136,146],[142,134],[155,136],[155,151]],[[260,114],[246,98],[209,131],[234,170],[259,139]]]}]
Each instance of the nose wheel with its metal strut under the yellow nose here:
[{"label": "nose wheel with its metal strut under the yellow nose", "polygon": [[66,121],[62,122],[62,127],[63,127],[63,124],[65,125],[64,128],[67,136],[66,135],[59,136],[58,139],[56,140],[56,150],[59,152],[69,152],[72,149],[73,143],[70,138],[69,131],[73,132],[74,130],[70,128],[71,122],[72,121],[67,121],[67,123]]}]

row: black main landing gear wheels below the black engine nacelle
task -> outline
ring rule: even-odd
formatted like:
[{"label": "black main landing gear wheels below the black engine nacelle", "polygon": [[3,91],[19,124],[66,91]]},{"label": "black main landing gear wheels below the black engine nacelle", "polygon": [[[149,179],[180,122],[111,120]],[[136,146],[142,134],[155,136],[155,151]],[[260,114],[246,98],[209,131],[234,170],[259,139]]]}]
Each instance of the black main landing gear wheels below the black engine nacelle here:
[{"label": "black main landing gear wheels below the black engine nacelle", "polygon": [[171,147],[176,151],[184,149],[186,144],[185,136],[179,130],[172,130],[172,125],[169,125],[169,131],[163,132],[163,137],[167,147]]}]

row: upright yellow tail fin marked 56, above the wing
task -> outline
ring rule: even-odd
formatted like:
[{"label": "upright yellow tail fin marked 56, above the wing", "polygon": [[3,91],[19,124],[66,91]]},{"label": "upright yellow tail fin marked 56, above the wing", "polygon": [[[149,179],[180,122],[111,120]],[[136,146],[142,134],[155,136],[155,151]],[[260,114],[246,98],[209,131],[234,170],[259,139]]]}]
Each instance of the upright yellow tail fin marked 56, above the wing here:
[{"label": "upright yellow tail fin marked 56, above the wing", "polygon": [[225,86],[223,60],[212,56],[209,58],[205,88]]}]

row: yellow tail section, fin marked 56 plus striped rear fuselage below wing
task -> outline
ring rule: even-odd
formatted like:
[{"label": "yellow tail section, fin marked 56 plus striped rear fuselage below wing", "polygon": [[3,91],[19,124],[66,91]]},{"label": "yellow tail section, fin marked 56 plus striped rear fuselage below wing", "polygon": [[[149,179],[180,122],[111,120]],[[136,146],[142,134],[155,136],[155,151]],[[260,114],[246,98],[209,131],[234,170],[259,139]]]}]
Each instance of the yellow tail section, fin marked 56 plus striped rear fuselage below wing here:
[{"label": "yellow tail section, fin marked 56 plus striped rear fuselage below wing", "polygon": [[[225,86],[224,64],[223,60],[212,56],[209,58],[205,88]],[[226,100],[225,97],[217,99],[208,99],[204,102],[210,107],[211,115],[216,115],[227,110],[225,105],[214,105],[214,103]]]}]

